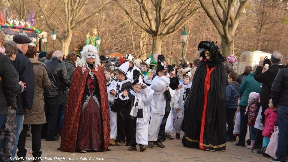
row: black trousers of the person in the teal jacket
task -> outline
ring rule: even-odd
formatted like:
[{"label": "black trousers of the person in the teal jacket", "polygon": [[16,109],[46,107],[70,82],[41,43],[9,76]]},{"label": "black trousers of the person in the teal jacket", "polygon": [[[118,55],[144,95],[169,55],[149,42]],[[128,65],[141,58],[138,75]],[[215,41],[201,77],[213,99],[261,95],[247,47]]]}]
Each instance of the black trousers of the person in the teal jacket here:
[{"label": "black trousers of the person in the teal jacket", "polygon": [[246,106],[240,106],[240,136],[238,143],[245,145],[245,137],[247,133],[248,114],[245,115]]}]

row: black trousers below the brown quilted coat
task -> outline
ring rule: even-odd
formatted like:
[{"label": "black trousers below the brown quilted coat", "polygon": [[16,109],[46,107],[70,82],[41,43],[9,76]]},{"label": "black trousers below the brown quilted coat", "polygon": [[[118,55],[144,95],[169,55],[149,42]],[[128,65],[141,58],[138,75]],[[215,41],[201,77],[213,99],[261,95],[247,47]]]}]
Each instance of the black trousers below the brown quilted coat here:
[{"label": "black trousers below the brown quilted coat", "polygon": [[[31,125],[31,133],[32,133],[32,155],[33,157],[41,157],[42,152],[41,149],[41,128],[42,125]],[[26,144],[26,134],[28,131],[28,125],[23,125],[23,129],[19,136],[18,141],[18,150],[17,156],[18,157],[26,157],[27,150],[25,149]]]}]

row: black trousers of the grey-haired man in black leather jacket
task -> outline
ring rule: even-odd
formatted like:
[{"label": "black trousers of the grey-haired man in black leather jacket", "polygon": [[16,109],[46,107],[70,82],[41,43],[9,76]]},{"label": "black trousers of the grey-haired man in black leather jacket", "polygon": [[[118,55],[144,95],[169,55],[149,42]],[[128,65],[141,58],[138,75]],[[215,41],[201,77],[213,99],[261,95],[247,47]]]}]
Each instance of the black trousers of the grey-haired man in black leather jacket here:
[{"label": "black trousers of the grey-haired man in black leather jacket", "polygon": [[52,139],[54,128],[57,124],[59,99],[60,97],[44,97],[45,99],[45,116],[47,123],[43,125],[42,135],[46,139]]}]

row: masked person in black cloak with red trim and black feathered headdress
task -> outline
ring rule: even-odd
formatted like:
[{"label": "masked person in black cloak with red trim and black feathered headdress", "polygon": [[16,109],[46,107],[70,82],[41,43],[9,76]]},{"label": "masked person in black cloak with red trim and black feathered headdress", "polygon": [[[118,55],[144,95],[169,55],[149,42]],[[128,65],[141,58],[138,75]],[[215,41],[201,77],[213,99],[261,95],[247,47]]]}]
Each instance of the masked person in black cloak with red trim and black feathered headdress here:
[{"label": "masked person in black cloak with red trim and black feathered headdress", "polygon": [[226,74],[224,58],[213,41],[198,45],[203,59],[193,77],[182,144],[207,151],[226,149]]}]

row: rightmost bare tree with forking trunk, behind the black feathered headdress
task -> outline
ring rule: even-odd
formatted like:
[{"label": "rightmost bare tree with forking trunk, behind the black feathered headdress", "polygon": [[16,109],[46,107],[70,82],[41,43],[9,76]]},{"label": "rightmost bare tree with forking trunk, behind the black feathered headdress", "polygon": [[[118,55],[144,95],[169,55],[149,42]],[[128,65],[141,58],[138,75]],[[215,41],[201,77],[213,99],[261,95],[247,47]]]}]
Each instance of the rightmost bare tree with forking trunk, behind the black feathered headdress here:
[{"label": "rightmost bare tree with forking trunk, behind the black feathered headdress", "polygon": [[232,54],[235,31],[249,1],[211,0],[211,6],[205,0],[199,0],[207,16],[221,36],[221,47],[224,56]]}]

